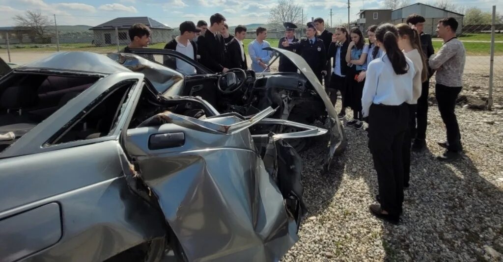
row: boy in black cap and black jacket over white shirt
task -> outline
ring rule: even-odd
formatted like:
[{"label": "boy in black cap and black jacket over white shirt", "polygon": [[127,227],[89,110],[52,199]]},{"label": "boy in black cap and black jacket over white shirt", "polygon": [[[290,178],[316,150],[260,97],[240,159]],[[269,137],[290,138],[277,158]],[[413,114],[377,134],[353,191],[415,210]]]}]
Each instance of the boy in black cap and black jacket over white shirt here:
[{"label": "boy in black cap and black jacket over white shirt", "polygon": [[[196,33],[201,32],[200,29],[196,28],[191,21],[185,21],[180,24],[180,36],[171,40],[164,46],[164,49],[175,50],[188,56],[192,60],[196,60],[197,56],[197,44],[194,42],[194,37]],[[194,74],[196,73],[196,68],[180,59],[170,57],[165,55],[163,57],[163,63],[167,67],[180,71],[184,74]]]}]

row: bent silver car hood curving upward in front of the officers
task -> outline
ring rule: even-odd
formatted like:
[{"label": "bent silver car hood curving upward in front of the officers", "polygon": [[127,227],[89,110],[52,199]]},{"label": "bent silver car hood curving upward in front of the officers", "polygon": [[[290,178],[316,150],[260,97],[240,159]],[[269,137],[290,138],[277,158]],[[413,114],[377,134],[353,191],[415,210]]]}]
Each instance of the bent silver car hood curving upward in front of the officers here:
[{"label": "bent silver car hood curving upward in front of the officers", "polygon": [[318,93],[320,98],[323,100],[323,104],[325,104],[326,111],[328,112],[328,116],[330,116],[333,119],[338,119],[336,109],[333,107],[332,103],[330,102],[330,99],[328,98],[328,95],[326,94],[325,89],[323,88],[323,85],[321,85],[318,78],[313,73],[313,71],[311,70],[311,67],[309,67],[309,65],[307,64],[306,60],[304,60],[304,58],[302,58],[300,55],[298,55],[294,52],[290,52],[285,49],[280,49],[280,48],[276,48],[276,47],[266,47],[264,49],[274,51],[278,55],[280,55],[282,57],[286,57],[295,66],[297,66],[297,69],[299,69],[299,71],[307,78],[307,80],[314,87],[314,90],[316,90],[316,92]]}]

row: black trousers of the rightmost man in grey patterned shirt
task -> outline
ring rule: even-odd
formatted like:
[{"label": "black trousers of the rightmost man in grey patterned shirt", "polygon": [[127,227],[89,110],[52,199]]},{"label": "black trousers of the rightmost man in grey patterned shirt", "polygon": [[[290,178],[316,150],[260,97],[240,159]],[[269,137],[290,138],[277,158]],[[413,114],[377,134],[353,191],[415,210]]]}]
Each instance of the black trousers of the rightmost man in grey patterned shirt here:
[{"label": "black trousers of the rightmost man in grey patterned shirt", "polygon": [[447,142],[449,151],[461,151],[461,134],[459,132],[458,120],[454,109],[456,108],[456,99],[461,92],[462,87],[451,87],[443,84],[435,85],[435,96],[439,106],[440,116],[444,121],[447,130]]}]

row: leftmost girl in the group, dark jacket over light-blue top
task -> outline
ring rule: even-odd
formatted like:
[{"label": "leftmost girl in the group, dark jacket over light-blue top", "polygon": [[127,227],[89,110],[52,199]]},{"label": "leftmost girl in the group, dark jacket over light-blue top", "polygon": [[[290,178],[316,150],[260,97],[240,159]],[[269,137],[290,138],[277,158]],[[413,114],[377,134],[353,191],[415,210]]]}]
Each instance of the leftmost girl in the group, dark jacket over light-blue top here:
[{"label": "leftmost girl in the group, dark jacket over light-blue top", "polygon": [[337,102],[337,91],[341,92],[342,105],[339,118],[342,119],[346,115],[346,107],[348,106],[348,96],[346,74],[348,73],[348,63],[346,62],[346,52],[348,50],[349,33],[345,27],[337,27],[336,32],[332,35],[332,42],[328,47],[328,60],[333,57],[332,74],[330,76],[329,93],[330,102],[335,106]]}]

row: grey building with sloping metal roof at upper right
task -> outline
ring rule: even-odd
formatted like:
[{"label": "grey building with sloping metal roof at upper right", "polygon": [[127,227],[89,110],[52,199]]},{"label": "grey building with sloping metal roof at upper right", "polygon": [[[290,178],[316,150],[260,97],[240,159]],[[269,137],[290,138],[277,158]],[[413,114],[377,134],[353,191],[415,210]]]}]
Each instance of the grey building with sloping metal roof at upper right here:
[{"label": "grey building with sloping metal roof at upper right", "polygon": [[437,30],[437,24],[439,20],[447,17],[453,17],[458,21],[459,24],[456,33],[461,34],[464,15],[422,3],[416,3],[393,10],[391,12],[391,23],[395,25],[399,23],[405,23],[407,17],[411,14],[418,14],[425,18],[426,22],[423,32],[431,35],[436,35],[435,32]]}]

